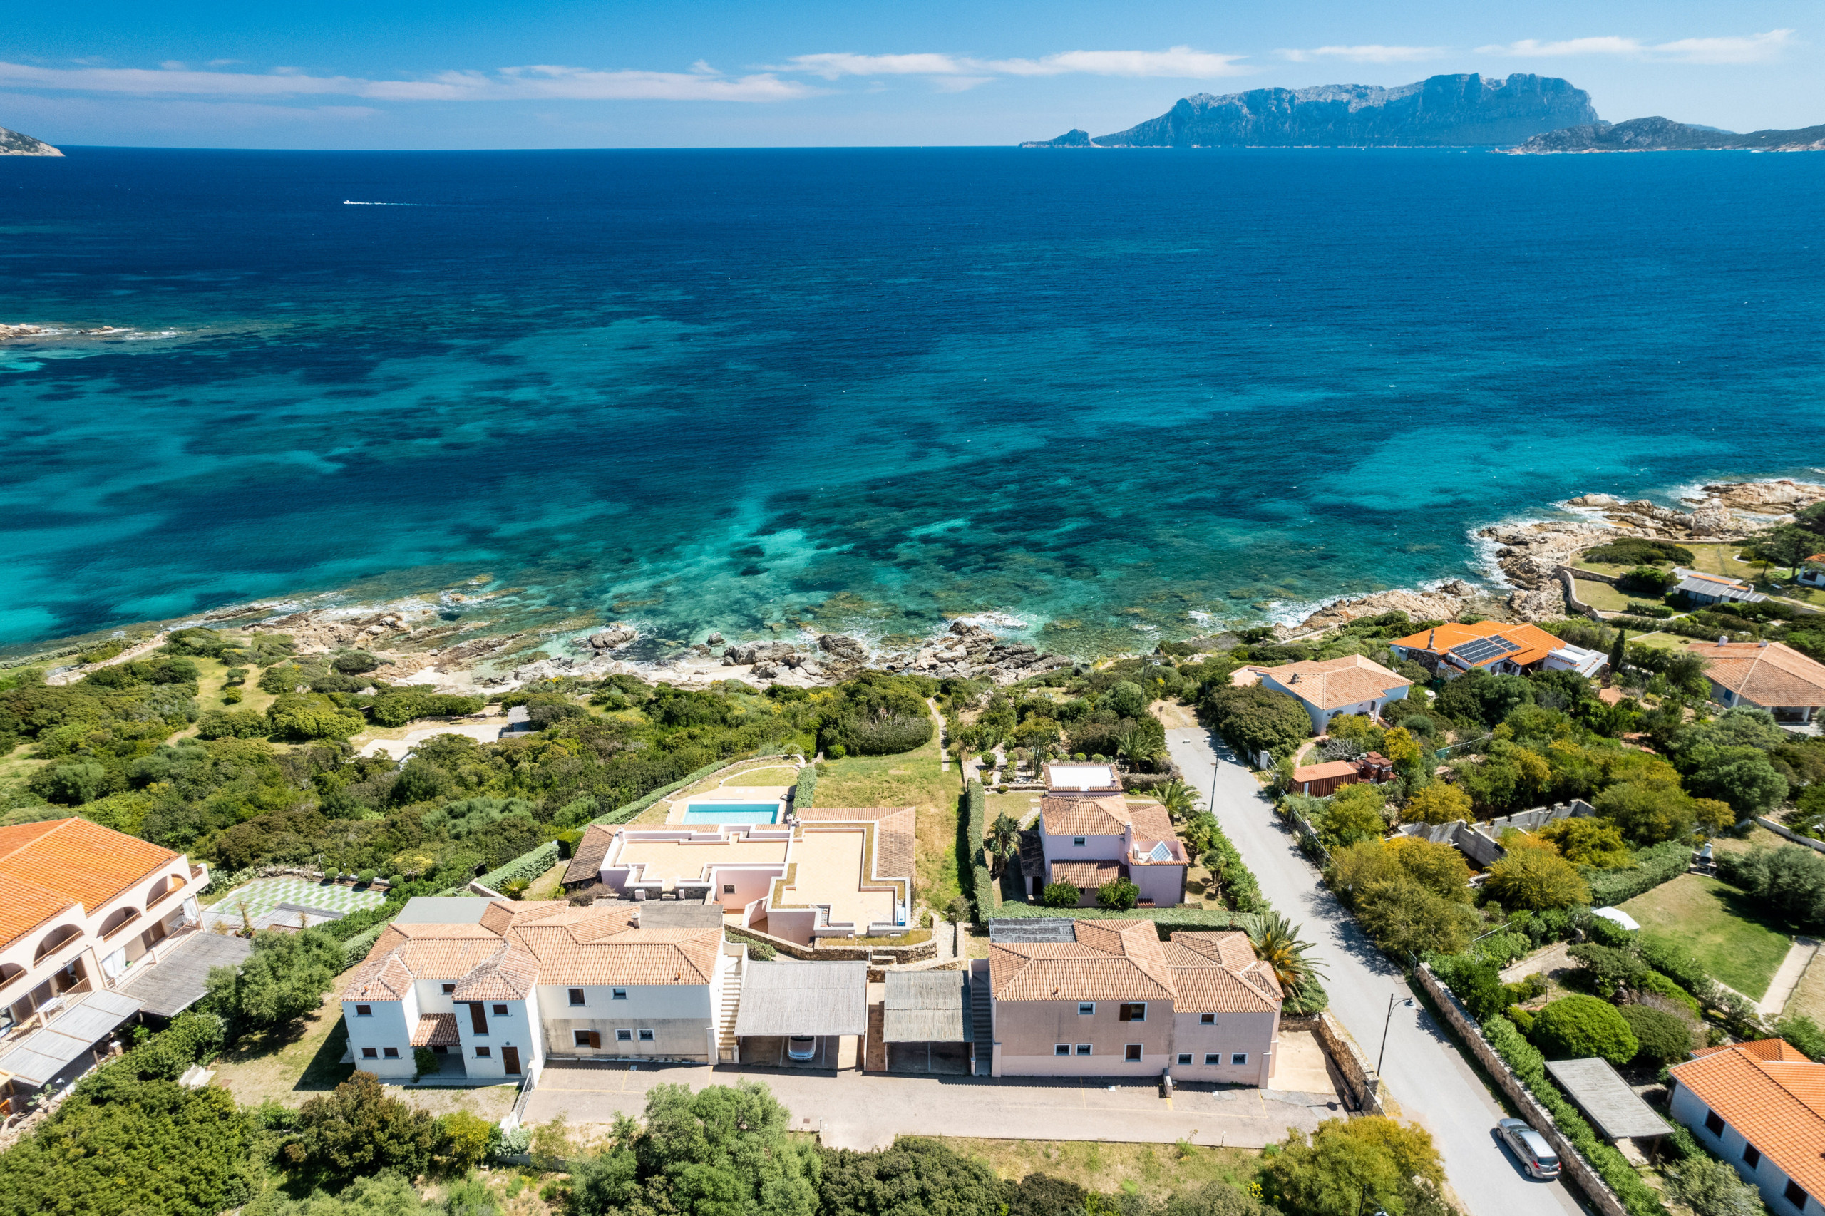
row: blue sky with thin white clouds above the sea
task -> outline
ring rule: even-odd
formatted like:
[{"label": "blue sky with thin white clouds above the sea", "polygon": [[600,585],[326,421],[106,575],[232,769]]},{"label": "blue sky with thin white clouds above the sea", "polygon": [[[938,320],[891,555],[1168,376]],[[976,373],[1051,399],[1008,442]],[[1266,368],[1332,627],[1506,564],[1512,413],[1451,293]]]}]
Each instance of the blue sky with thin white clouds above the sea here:
[{"label": "blue sky with thin white clouds above the sea", "polygon": [[1566,77],[1610,121],[1825,122],[1818,0],[15,5],[0,126],[193,148],[1011,144],[1197,91]]}]

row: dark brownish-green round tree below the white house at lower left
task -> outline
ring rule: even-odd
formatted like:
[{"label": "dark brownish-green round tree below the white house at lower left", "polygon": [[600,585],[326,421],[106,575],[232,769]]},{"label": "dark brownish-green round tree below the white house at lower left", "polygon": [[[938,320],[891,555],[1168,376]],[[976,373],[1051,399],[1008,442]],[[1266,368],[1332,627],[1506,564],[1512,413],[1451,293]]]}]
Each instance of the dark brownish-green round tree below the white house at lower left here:
[{"label": "dark brownish-green round tree below the white house at lower left", "polygon": [[299,1139],[287,1156],[314,1174],[350,1181],[380,1170],[423,1172],[438,1143],[431,1114],[392,1097],[370,1072],[356,1072],[297,1110]]}]

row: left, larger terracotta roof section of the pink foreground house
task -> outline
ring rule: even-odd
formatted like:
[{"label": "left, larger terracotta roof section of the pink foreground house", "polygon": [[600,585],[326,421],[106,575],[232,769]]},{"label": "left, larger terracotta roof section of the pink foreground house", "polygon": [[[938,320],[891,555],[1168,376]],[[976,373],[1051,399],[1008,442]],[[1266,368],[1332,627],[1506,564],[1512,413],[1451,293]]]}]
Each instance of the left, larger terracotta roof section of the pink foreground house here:
[{"label": "left, larger terracotta roof section of the pink foreground house", "polygon": [[1172,973],[1152,920],[1075,920],[1075,942],[989,946],[996,1001],[1170,1001]]}]

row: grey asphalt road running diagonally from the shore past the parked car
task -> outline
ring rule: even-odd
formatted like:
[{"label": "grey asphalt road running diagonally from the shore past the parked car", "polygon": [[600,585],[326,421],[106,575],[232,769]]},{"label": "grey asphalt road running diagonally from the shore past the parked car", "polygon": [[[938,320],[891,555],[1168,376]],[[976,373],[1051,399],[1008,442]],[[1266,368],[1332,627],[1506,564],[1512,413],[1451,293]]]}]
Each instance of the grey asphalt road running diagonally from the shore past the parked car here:
[{"label": "grey asphalt road running diagonally from the shore past the parked car", "polygon": [[[1168,730],[1166,747],[1188,785],[1203,798],[1215,791],[1212,811],[1259,880],[1261,893],[1294,924],[1303,924],[1301,937],[1316,946],[1314,955],[1325,970],[1330,1013],[1372,1063],[1382,1048],[1389,997],[1413,995],[1400,970],[1319,884],[1318,869],[1299,853],[1254,774],[1236,763],[1228,747],[1217,743],[1214,750],[1203,729]],[[1458,1055],[1449,1030],[1436,1024],[1418,999],[1411,1010],[1396,1004],[1387,1022],[1382,1079],[1400,1114],[1433,1134],[1445,1176],[1469,1216],[1588,1211],[1564,1183],[1528,1178],[1500,1147],[1493,1128],[1504,1116],[1502,1106]]]}]

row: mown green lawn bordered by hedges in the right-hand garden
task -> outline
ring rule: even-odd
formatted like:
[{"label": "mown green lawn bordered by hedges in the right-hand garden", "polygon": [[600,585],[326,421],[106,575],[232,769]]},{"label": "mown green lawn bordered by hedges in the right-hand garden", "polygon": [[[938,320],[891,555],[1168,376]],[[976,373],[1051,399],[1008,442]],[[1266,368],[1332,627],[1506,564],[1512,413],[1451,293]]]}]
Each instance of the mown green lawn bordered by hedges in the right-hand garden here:
[{"label": "mown green lawn bordered by hedges in the right-hand garden", "polygon": [[1736,887],[1683,875],[1621,906],[1644,937],[1690,949],[1710,975],[1761,1001],[1792,944]]}]

